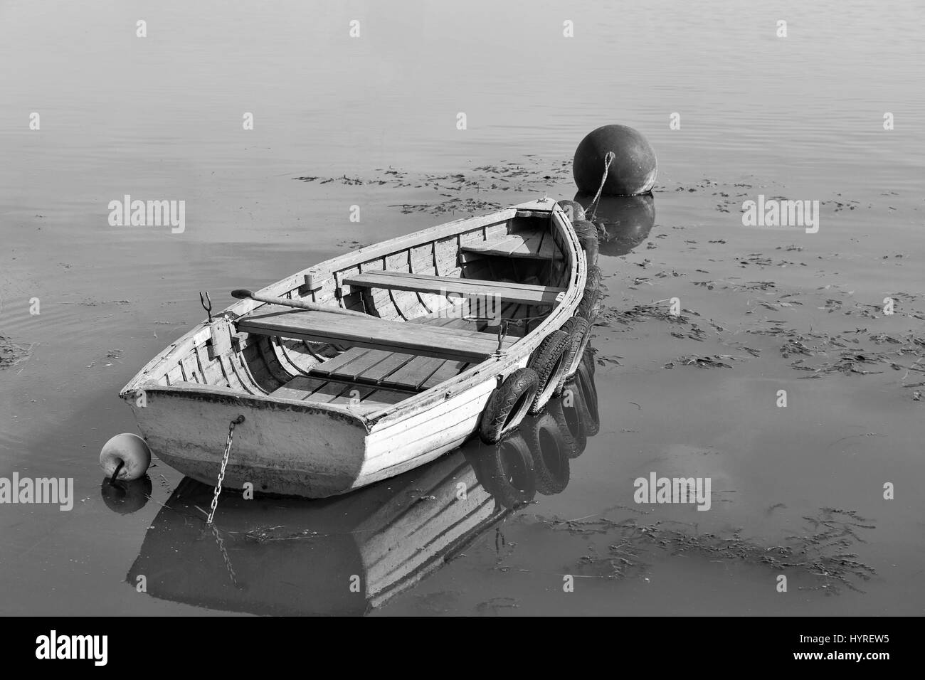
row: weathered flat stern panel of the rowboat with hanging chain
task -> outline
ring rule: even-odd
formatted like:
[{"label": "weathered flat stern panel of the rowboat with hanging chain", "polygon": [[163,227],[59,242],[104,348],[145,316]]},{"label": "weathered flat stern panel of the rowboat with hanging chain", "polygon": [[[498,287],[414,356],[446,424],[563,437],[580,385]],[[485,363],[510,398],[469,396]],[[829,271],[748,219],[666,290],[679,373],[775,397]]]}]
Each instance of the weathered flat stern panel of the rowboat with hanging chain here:
[{"label": "weathered flat stern panel of the rowboat with hanging chain", "polygon": [[154,454],[204,484],[216,485],[229,425],[243,415],[224,487],[323,498],[357,486],[368,431],[345,408],[206,387],[151,385],[121,396]]}]

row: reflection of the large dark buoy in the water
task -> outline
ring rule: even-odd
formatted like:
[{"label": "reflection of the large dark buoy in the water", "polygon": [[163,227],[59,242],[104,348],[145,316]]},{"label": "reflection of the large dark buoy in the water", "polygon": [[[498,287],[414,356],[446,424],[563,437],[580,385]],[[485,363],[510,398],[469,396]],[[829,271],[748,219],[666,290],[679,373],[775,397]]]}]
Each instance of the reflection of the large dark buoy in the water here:
[{"label": "reflection of the large dark buoy in the water", "polygon": [[[593,198],[579,192],[574,200],[587,208]],[[594,222],[598,225],[598,252],[610,257],[625,255],[645,241],[655,225],[655,198],[651,193],[601,196],[594,213]]]}]

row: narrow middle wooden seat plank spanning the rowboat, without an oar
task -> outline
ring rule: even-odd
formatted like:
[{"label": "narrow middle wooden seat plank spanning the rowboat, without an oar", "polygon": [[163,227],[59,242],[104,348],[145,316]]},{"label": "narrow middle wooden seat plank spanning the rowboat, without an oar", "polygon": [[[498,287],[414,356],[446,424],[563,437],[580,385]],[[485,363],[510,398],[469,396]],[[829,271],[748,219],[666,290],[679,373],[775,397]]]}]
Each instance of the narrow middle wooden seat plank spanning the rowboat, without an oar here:
[{"label": "narrow middle wooden seat plank spanning the rowboat, without an oar", "polygon": [[[531,237],[533,238],[533,237]],[[534,241],[542,241],[543,234]],[[533,242],[533,241],[529,241]],[[528,241],[520,247],[527,247]],[[532,247],[532,246],[530,246]],[[537,246],[537,251],[541,250]],[[530,286],[524,283],[491,281],[480,278],[433,277],[425,274],[407,274],[392,271],[371,271],[344,278],[344,284],[381,288],[390,291],[430,292],[442,295],[456,294],[463,296],[498,296],[501,300],[511,300],[527,304],[553,304],[564,288],[550,286]]]}]

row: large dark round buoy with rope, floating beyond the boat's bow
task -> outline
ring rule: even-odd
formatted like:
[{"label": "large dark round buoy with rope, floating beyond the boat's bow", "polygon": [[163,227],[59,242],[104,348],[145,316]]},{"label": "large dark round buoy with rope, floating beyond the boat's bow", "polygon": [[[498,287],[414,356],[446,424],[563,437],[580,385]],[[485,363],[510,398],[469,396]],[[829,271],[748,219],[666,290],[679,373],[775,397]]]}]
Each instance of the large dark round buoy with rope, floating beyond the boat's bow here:
[{"label": "large dark round buoy with rope, floating beyond the boat's bow", "polygon": [[608,152],[614,157],[604,182],[605,195],[635,196],[652,191],[658,167],[651,144],[633,128],[605,125],[589,132],[575,150],[572,173],[580,192],[592,196],[598,192]]}]

